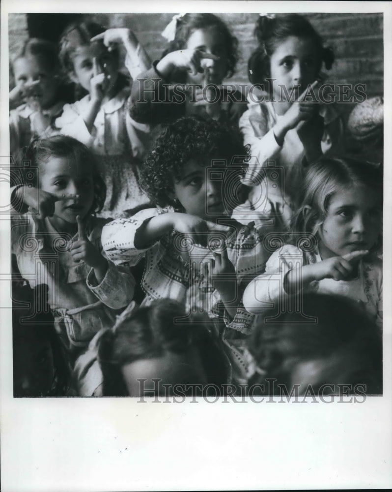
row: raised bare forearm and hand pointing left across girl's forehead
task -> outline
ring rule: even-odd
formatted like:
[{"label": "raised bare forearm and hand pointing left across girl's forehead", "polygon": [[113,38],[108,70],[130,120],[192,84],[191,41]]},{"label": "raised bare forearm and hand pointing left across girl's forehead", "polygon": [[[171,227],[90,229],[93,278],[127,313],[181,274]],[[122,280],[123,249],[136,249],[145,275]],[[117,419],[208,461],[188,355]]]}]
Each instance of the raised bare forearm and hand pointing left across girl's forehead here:
[{"label": "raised bare forearm and hand pointing left across girl's forehead", "polygon": [[113,44],[122,43],[127,52],[125,66],[133,80],[140,74],[151,67],[151,59],[145,52],[143,46],[138,41],[135,33],[127,28],[108,29],[97,36],[91,38],[91,41],[102,39],[108,51],[112,51]]}]

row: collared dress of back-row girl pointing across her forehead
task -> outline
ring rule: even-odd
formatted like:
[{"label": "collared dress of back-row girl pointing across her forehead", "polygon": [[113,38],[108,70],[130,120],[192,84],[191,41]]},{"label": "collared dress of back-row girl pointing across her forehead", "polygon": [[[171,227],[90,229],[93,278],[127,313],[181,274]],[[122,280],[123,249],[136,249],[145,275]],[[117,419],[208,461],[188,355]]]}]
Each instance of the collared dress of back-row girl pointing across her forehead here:
[{"label": "collared dress of back-row girl pointing across her forehead", "polygon": [[98,157],[99,170],[107,186],[103,217],[119,217],[124,210],[148,203],[138,183],[138,165],[144,154],[149,127],[131,119],[127,110],[130,88],[124,87],[104,103],[95,118],[91,132],[83,115],[90,96],[74,104],[66,104],[56,120],[64,135],[84,143]]}]

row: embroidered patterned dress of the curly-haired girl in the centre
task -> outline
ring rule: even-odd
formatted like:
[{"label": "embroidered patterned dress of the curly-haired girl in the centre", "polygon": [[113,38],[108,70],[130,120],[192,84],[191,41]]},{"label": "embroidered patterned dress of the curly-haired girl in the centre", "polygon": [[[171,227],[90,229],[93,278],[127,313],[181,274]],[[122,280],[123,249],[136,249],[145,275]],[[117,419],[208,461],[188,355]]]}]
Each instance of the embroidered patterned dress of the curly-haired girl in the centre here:
[{"label": "embroidered patterned dress of the curly-haired girl in the centre", "polygon": [[[131,218],[117,219],[107,224],[102,231],[106,254],[115,264],[130,266],[145,258],[142,288],[146,295],[142,306],[151,304],[154,299],[170,298],[185,303],[190,311],[207,312],[215,320],[221,338],[229,347],[228,355],[235,366],[234,377],[239,382],[246,382],[245,341],[252,331],[254,316],[244,309],[241,302],[234,318],[228,316],[218,291],[212,285],[211,250],[194,245],[189,251],[178,241],[179,236],[175,233],[163,236],[146,249],[135,247],[135,234],[141,224],[168,212],[174,210],[147,209]],[[226,237],[226,245],[241,293],[251,278],[264,272],[267,255],[263,235],[252,223],[248,226],[236,223]]]}]

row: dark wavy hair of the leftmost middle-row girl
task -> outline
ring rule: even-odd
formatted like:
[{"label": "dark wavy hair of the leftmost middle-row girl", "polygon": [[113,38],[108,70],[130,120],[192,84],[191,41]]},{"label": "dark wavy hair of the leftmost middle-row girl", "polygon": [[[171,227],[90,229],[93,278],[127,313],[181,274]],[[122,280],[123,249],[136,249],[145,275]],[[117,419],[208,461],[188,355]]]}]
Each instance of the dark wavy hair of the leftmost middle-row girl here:
[{"label": "dark wavy hair of the leftmost middle-row girl", "polygon": [[85,165],[91,164],[94,200],[88,214],[94,215],[100,212],[106,199],[106,184],[97,171],[98,166],[95,156],[75,138],[66,135],[55,135],[49,138],[34,139],[24,156],[24,161],[28,161],[32,166],[31,169],[26,168],[24,184],[39,187],[39,166],[47,162],[51,157],[68,157]]}]

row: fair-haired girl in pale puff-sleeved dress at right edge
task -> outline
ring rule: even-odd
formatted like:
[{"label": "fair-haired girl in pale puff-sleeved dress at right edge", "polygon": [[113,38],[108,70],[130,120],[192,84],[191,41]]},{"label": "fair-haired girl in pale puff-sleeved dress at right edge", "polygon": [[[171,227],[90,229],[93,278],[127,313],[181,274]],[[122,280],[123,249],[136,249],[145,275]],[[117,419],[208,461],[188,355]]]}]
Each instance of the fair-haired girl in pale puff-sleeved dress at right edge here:
[{"label": "fair-haired girl in pale puff-sleeved dress at right edge", "polygon": [[382,186],[380,168],[366,162],[323,157],[312,164],[291,244],[275,251],[265,274],[250,282],[244,306],[253,313],[277,302],[283,310],[289,303],[299,307],[302,290],[317,290],[356,300],[381,329],[382,260],[376,252]]}]

